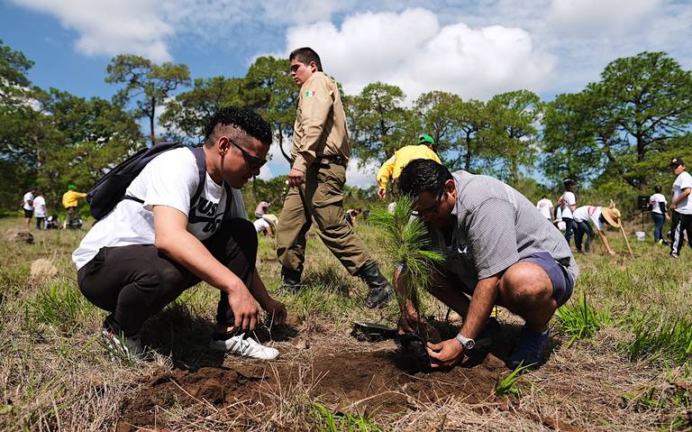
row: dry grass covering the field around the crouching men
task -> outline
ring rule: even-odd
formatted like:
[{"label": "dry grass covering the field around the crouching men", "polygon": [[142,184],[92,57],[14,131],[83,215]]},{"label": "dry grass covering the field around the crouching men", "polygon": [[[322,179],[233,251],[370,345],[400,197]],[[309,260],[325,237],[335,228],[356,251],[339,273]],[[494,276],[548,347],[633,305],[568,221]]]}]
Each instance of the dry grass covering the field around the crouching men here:
[{"label": "dry grass covering the field around the crouching men", "polygon": [[[0,219],[0,232],[19,224],[19,219]],[[359,230],[365,242],[377,248],[374,230],[367,225]],[[138,367],[111,363],[97,338],[104,313],[78,295],[69,258],[84,233],[33,234],[32,245],[15,244],[6,236],[0,240],[0,430],[114,430],[128,398],[146,389],[154,377],[210,365],[248,370],[259,377],[253,384],[257,397],[219,406],[188,392],[169,406],[159,406],[156,418],[161,422],[150,427],[318,429],[323,423],[315,415],[317,395],[334,377],[315,373],[314,360],[343,353],[367,358],[395,349],[390,342],[362,344],[351,338],[353,320],[394,326],[396,308],[362,308],[365,286],[348,276],[311,237],[307,290],[281,297],[296,316],[298,335],[273,343],[281,352],[278,362],[258,368],[257,363],[208,354],[205,344],[217,294],[202,286],[188,290],[178,306],[166,309],[145,327],[142,337],[158,353],[154,361]],[[622,239],[616,233],[611,237],[615,250],[624,251]],[[660,313],[688,319],[692,269],[687,260],[692,252],[687,249],[674,261],[651,244],[633,242],[633,248],[635,260],[624,254],[597,255],[597,243],[595,254],[578,256],[583,275],[576,294],[587,293],[597,310],[609,311],[612,321],[590,339],[569,347],[569,337],[556,329],[556,350],[540,370],[520,379],[520,398],[496,398],[487,392],[469,400],[447,391],[445,378],[438,377],[435,380],[440,382],[428,394],[391,390],[405,398],[405,409],[396,412],[371,410],[371,402],[383,395],[367,390],[360,399],[322,401],[334,413],[364,415],[383,430],[689,430],[687,412],[692,407],[685,389],[690,385],[690,363],[671,363],[665,357],[631,363],[626,347],[633,342],[633,317]],[[278,286],[274,257],[271,241],[261,239],[259,271],[271,290]],[[38,259],[50,260],[57,274],[32,278],[32,262]],[[383,268],[391,271],[391,263],[383,263]],[[430,299],[425,303],[428,315],[445,316],[446,308]],[[506,312],[500,320],[512,345],[520,320]],[[292,374],[290,379],[287,373]],[[180,395],[187,391],[180,386]]]}]

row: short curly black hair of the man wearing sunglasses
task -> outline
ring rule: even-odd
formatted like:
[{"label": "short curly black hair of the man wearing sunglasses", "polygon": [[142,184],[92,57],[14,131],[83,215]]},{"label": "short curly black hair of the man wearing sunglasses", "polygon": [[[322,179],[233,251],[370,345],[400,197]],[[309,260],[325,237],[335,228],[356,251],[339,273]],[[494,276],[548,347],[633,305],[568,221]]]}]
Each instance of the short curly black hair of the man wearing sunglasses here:
[{"label": "short curly black hair of the man wearing sunglasses", "polygon": [[240,106],[227,106],[212,115],[205,126],[205,143],[208,144],[210,138],[215,141],[214,134],[225,126],[241,129],[260,142],[267,145],[271,144],[271,126],[269,123],[265,122],[254,111]]}]

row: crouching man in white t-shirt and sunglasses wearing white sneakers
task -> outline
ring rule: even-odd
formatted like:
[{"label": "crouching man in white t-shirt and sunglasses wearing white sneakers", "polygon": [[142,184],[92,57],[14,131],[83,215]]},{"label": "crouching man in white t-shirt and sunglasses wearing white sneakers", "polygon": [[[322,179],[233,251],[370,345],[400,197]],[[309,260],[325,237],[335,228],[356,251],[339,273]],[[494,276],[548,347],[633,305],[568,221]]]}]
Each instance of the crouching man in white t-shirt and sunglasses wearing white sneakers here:
[{"label": "crouching man in white t-shirt and sunglasses wearing white sneakers", "polygon": [[[104,321],[106,344],[141,357],[144,321],[205,280],[221,291],[211,347],[273,359],[274,348],[247,332],[259,323],[259,307],[275,323],[286,308],[272,299],[256,271],[257,234],[245,218],[239,188],[266,162],[269,124],[254,112],[228,107],[205,128],[205,185],[191,149],[164,152],[132,180],[123,199],[89,230],[72,260],[79,289]],[[259,306],[258,306],[259,302]]]}]

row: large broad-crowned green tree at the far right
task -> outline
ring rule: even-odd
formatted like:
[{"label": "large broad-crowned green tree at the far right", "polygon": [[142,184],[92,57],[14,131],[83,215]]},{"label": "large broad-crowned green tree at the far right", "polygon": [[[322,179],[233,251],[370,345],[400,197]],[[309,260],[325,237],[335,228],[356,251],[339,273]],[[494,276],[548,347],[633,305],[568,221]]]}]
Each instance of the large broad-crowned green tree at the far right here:
[{"label": "large broad-crowned green tree at the far right", "polygon": [[[547,170],[567,170],[604,186],[643,191],[683,148],[692,125],[692,75],[662,52],[642,52],[605,67],[577,95],[560,95],[545,118]],[[619,190],[615,184],[612,190]]]}]

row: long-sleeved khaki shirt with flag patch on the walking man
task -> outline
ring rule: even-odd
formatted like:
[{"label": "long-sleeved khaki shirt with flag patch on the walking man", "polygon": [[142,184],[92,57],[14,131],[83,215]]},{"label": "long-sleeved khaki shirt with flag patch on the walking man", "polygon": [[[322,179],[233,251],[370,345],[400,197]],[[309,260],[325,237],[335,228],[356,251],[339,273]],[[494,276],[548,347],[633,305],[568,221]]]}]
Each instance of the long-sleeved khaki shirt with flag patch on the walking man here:
[{"label": "long-sleeved khaki shirt with flag patch on the walking man", "polygon": [[351,156],[339,88],[323,72],[314,72],[300,87],[291,156],[293,168],[304,172],[317,157],[339,156],[347,162]]}]

